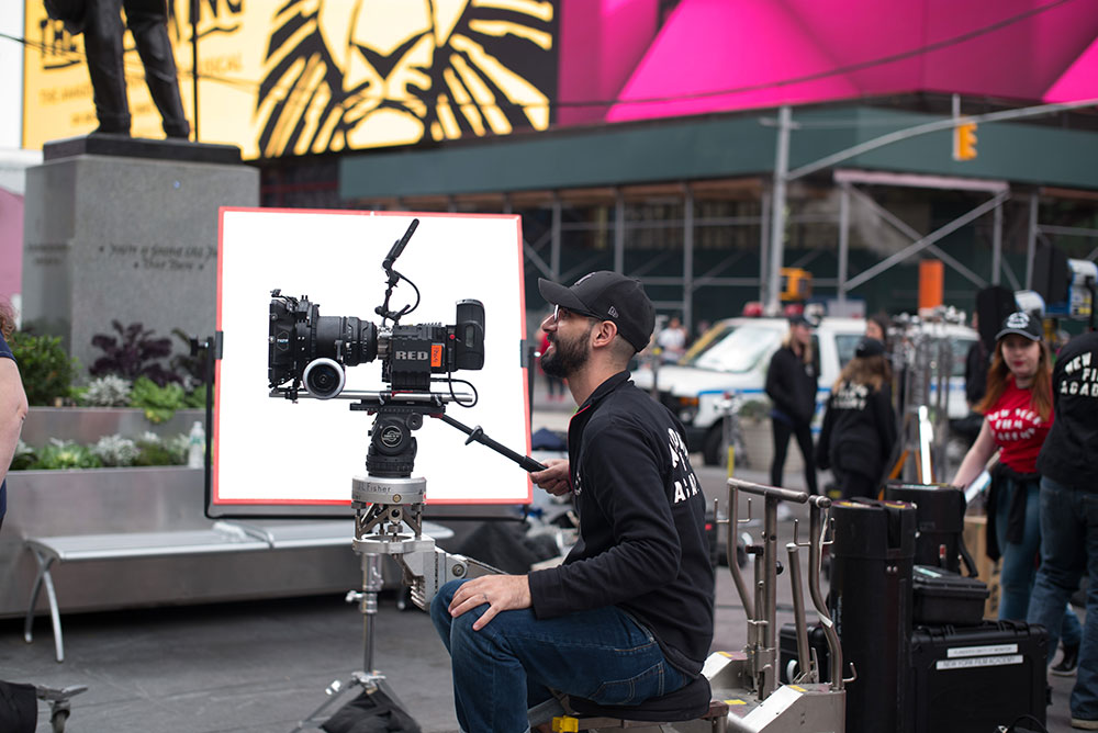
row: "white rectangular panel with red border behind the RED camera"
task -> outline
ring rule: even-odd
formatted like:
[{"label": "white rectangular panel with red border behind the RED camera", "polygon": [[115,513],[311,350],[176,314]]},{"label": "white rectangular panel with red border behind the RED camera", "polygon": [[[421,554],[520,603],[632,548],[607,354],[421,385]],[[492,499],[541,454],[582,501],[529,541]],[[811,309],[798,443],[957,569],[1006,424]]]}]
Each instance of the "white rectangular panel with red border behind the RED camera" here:
[{"label": "white rectangular panel with red border behind the RED camera", "polygon": [[[522,233],[517,216],[311,212],[221,212],[217,328],[224,349],[215,396],[210,512],[220,516],[333,514],[350,501],[351,477],[366,474],[373,416],[346,399],[269,396],[270,292],[309,300],[321,316],[355,316],[379,326],[385,273],[381,261],[413,218],[419,226],[394,269],[419,289],[419,306],[401,325],[455,323],[455,304],[484,304],[484,368],[459,371],[480,401],[446,414],[529,453]],[[390,307],[415,302],[401,282]],[[390,324],[391,325],[391,324]],[[347,390],[382,390],[381,361],[347,369]],[[456,391],[468,390],[458,384]],[[446,390],[436,385],[436,392]],[[428,505],[523,504],[525,471],[466,436],[427,418],[415,431],[414,476],[427,480]]]}]

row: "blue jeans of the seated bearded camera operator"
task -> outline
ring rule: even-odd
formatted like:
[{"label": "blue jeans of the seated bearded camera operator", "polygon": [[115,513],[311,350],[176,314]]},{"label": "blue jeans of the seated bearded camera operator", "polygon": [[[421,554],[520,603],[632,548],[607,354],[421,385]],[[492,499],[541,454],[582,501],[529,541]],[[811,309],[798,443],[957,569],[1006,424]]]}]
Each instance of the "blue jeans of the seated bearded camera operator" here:
[{"label": "blue jeans of the seated bearded camera operator", "polygon": [[530,609],[503,611],[473,631],[488,605],[457,618],[447,610],[462,583],[447,583],[430,604],[450,653],[462,731],[526,731],[527,709],[549,699],[550,689],[601,704],[639,704],[688,681],[652,633],[614,606],[552,619]]}]

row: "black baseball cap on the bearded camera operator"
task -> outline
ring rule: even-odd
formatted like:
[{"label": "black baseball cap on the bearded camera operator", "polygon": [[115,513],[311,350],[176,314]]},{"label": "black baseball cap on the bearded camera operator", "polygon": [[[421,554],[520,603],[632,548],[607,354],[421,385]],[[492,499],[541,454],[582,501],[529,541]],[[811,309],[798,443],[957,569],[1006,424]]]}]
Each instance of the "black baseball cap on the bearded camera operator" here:
[{"label": "black baseball cap on the bearded camera operator", "polygon": [[600,270],[585,274],[571,287],[538,278],[541,297],[584,316],[613,322],[618,334],[637,351],[648,346],[656,327],[656,306],[632,278]]}]

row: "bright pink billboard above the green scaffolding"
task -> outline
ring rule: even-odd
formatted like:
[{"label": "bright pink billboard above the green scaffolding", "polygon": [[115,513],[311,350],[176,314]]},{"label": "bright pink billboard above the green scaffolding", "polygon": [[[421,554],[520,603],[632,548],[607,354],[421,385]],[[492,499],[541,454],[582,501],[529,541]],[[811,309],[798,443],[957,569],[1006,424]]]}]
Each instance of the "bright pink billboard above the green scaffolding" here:
[{"label": "bright pink billboard above the green scaffolding", "polygon": [[1098,98],[1096,2],[681,0],[665,19],[657,4],[565,0],[559,123],[918,92]]}]

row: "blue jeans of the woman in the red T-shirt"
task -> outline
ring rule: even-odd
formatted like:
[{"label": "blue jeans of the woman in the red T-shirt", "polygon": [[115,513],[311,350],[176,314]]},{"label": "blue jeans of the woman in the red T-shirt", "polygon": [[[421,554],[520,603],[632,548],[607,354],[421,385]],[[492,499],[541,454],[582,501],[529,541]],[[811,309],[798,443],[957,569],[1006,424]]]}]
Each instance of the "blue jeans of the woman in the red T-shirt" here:
[{"label": "blue jeans of the woman in the red T-shirt", "polygon": [[[1026,530],[1021,542],[1007,542],[1010,501],[1018,490],[1026,492]],[[1042,529],[1046,532],[1054,531],[1049,527],[1056,526],[1043,525],[1044,512],[1041,484],[1035,481],[1004,480],[995,511],[995,534],[1002,556],[999,570],[999,618],[1002,620],[1023,621],[1027,618],[1033,579],[1037,576],[1037,559],[1041,551]],[[1056,625],[1055,636],[1063,638],[1065,644],[1074,646],[1079,643],[1083,630],[1075,611],[1068,608],[1066,598],[1064,609],[1067,612],[1063,613],[1061,623]],[[1053,642],[1055,639],[1050,640],[1050,653],[1056,651]]]}]

